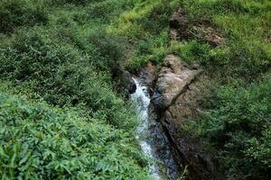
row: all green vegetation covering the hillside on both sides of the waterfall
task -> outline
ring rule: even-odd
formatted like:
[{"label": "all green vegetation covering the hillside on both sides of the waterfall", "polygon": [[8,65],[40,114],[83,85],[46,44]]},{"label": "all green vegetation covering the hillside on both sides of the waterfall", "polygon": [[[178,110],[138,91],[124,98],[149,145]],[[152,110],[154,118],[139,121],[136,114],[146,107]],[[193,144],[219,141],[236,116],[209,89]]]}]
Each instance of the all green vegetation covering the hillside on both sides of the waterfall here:
[{"label": "all green vegetation covering the hillside on both sides of the waterfall", "polygon": [[[226,42],[170,40],[179,7]],[[211,79],[192,133],[229,179],[269,179],[270,10],[268,0],[1,1],[0,175],[147,178],[135,112],[116,90],[124,67],[174,53]]]}]

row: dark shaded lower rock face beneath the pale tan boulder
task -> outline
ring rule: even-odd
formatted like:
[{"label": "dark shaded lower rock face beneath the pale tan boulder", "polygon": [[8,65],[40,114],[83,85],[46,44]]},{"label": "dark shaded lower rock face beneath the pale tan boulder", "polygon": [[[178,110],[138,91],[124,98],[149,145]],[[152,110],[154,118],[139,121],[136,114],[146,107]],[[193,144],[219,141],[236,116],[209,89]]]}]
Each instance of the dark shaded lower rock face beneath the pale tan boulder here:
[{"label": "dark shaded lower rock face beneath the pale tan boulder", "polygon": [[[174,156],[179,159],[181,166],[183,164],[188,166],[188,178],[192,180],[225,179],[220,173],[216,160],[202,150],[198,139],[193,139],[180,128],[194,115],[193,111],[190,108],[182,109],[183,106],[176,107],[177,105],[167,110],[161,121],[175,145]],[[174,112],[174,110],[178,110],[178,112]],[[185,112],[186,110],[189,111]]]}]

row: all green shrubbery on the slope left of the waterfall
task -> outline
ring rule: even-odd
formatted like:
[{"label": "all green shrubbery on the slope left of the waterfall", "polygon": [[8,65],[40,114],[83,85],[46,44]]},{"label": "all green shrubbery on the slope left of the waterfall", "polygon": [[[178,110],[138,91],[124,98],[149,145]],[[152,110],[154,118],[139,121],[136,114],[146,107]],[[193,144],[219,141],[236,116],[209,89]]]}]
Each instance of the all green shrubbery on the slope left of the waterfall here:
[{"label": "all green shrubbery on the slope left of the waterfall", "polygon": [[1,1],[1,179],[149,178],[135,112],[113,83],[124,40],[98,6],[113,21],[132,4]]}]

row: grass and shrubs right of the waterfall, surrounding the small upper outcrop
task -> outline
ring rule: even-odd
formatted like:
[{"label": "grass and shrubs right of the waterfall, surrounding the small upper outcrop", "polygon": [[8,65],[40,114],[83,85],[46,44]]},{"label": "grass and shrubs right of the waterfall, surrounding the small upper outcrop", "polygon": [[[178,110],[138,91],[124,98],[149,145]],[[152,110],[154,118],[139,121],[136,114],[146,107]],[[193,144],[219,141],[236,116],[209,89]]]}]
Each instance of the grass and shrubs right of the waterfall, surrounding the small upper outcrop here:
[{"label": "grass and shrubs right of the waterfall, surrounding the small upper outcrop", "polygon": [[[210,22],[224,44],[199,38],[170,40],[169,18],[182,7],[192,22]],[[139,1],[108,31],[131,43],[131,71],[169,53],[201,63],[210,76],[201,120],[192,134],[213,150],[229,179],[269,179],[271,166],[270,67],[271,4],[267,0]]]}]

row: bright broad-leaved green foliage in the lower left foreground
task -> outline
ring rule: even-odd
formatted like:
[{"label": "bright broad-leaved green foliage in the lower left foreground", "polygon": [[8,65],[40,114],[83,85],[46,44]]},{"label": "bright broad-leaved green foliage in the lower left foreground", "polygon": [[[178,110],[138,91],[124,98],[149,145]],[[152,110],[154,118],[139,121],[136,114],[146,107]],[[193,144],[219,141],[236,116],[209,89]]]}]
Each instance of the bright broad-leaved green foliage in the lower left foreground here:
[{"label": "bright broad-leaved green foliage in the lower left foreground", "polygon": [[0,126],[2,179],[147,179],[127,129],[27,101],[3,87]]}]

